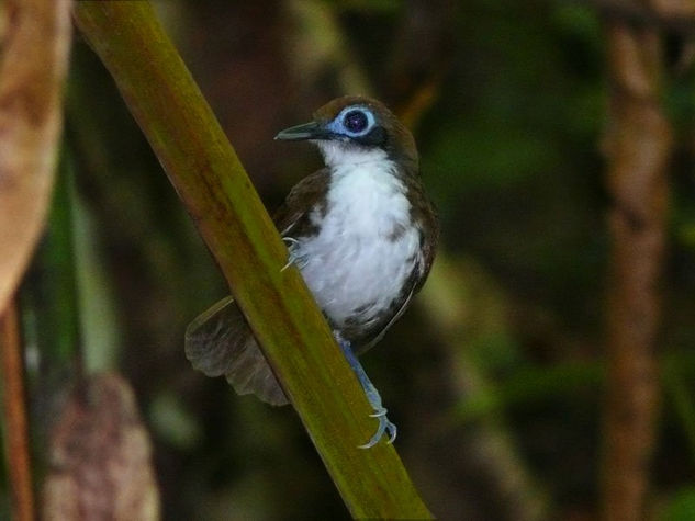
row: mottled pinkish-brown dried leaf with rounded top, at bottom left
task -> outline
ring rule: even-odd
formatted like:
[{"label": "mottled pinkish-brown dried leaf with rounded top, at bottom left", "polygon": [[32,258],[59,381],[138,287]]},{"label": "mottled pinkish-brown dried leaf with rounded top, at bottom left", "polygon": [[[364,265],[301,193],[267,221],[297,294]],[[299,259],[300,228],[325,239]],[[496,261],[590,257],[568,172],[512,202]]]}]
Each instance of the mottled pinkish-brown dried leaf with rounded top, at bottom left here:
[{"label": "mottled pinkish-brown dried leaf with rounded top, at bottom left", "polygon": [[68,397],[55,426],[43,519],[156,520],[152,445],[128,384],[98,375]]}]

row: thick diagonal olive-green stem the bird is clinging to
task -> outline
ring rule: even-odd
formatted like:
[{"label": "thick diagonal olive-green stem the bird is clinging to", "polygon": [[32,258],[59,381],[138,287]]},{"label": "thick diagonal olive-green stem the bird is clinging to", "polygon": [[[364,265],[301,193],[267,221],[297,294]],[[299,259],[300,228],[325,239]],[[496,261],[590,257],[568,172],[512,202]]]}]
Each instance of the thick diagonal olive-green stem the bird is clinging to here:
[{"label": "thick diagonal olive-green stem the bird is clinging to", "polygon": [[357,449],[375,428],[367,399],[299,271],[281,271],[280,236],[150,4],[80,1],[75,19],[194,219],[350,513],[429,518],[392,445]]}]

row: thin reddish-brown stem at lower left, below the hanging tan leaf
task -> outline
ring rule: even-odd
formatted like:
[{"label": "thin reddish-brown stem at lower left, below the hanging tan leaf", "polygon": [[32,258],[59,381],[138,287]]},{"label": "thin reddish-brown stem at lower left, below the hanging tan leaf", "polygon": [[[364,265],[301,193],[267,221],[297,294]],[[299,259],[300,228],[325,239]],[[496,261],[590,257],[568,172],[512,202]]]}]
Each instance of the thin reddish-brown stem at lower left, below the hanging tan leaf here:
[{"label": "thin reddish-brown stem at lower left, below the hanging tan leaf", "polygon": [[0,318],[0,358],[7,431],[7,462],[12,488],[12,519],[34,519],[34,490],[30,457],[24,367],[16,306],[11,303]]}]

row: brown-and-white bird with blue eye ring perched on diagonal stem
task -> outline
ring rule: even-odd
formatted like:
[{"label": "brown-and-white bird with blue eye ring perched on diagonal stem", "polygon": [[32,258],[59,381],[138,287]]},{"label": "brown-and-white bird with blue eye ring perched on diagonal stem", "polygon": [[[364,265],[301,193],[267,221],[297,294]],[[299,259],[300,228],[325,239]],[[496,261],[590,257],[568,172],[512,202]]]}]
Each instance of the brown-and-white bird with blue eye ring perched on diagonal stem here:
[{"label": "brown-and-white bird with blue eye ring perched on diagonal stem", "polygon": [[[408,129],[381,102],[337,98],[310,123],[277,140],[307,140],[325,167],[300,181],[274,215],[296,267],[355,372],[379,426],[361,449],[397,429],[358,355],[403,315],[430,271],[439,236],[423,188]],[[208,376],[225,375],[240,394],[271,405],[288,398],[232,296],[197,317],[186,331],[186,355]]]}]

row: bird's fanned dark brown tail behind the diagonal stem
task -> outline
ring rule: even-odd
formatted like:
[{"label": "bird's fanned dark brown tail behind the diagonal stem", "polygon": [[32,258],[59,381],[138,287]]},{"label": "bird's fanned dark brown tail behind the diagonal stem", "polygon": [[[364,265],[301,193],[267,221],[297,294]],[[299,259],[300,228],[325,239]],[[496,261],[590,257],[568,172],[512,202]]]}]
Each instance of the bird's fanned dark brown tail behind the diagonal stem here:
[{"label": "bird's fanned dark brown tail behind the diagonal stem", "polygon": [[231,296],[202,313],[186,329],[186,358],[208,376],[225,375],[240,395],[253,393],[271,405],[288,404]]}]

